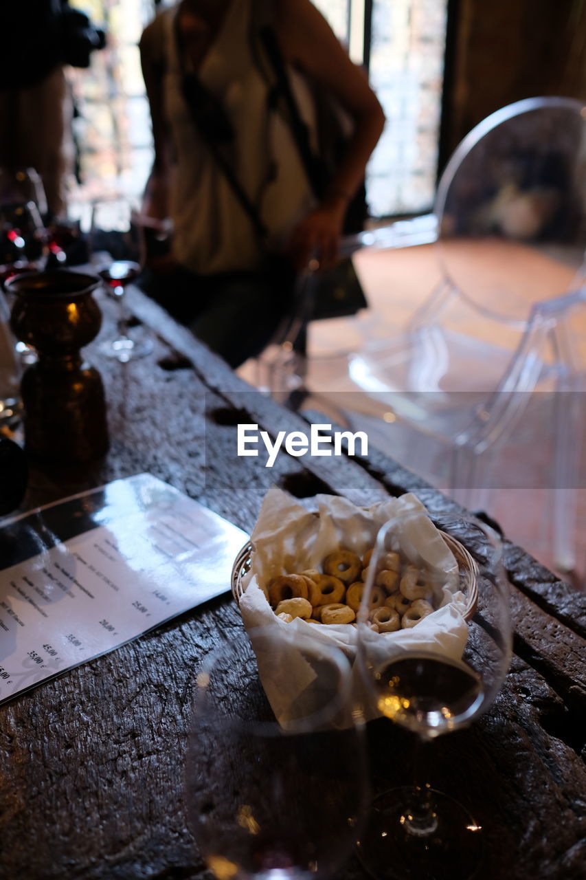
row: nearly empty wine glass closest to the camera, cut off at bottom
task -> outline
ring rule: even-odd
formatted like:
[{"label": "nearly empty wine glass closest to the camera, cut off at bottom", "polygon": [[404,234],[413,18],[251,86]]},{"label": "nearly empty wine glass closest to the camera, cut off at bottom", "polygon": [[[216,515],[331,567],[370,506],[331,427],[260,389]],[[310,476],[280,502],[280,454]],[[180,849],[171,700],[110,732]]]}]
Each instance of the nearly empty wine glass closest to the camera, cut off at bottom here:
[{"label": "nearly empty wine glass closest to the camera, cut off at bottom", "polygon": [[187,815],[209,868],[218,880],[334,876],[370,798],[341,649],[289,624],[220,634],[196,684]]}]

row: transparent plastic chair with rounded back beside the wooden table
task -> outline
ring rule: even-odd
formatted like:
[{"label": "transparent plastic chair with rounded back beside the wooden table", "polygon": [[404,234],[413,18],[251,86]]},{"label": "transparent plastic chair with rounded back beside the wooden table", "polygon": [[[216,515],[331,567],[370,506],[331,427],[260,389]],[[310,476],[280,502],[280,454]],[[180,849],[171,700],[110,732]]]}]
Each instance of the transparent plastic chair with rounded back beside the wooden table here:
[{"label": "transparent plastic chair with rounded back beside the wooden table", "polygon": [[311,349],[304,365],[305,387],[341,421],[400,421],[443,445],[468,507],[498,487],[516,432],[527,458],[547,439],[553,553],[567,570],[586,390],[585,129],[586,109],[565,98],[518,101],[473,128],[436,194],[441,282],[399,334],[377,324],[329,370]]}]

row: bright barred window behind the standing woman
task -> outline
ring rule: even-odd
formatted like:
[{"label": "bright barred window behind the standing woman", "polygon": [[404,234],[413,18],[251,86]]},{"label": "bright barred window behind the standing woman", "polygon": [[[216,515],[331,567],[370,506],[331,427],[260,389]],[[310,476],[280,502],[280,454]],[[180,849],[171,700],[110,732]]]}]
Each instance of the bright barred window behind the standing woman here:
[{"label": "bright barred window behind the standing woman", "polygon": [[[165,0],[162,5],[172,4]],[[314,0],[385,109],[385,132],[367,169],[374,217],[431,208],[443,84],[448,0]],[[104,189],[140,194],[152,143],[137,43],[154,0],[70,0],[104,22],[108,48],[90,70],[71,70],[80,178],[89,197]],[[366,47],[365,47],[366,35]],[[367,57],[365,58],[365,55]]]}]

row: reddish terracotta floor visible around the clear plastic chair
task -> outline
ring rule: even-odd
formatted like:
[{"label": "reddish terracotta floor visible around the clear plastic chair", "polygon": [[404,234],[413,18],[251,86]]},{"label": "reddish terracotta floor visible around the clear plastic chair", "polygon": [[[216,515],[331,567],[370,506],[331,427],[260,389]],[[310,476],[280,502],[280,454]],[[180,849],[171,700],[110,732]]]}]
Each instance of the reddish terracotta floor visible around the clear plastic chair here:
[{"label": "reddish terracotta floor visible around the clear plastic chair", "polygon": [[[336,387],[336,373],[345,366],[342,365],[343,358],[337,363],[332,359],[332,353],[355,351],[363,341],[377,338],[383,332],[388,334],[389,326],[400,334],[407,319],[429,296],[440,277],[434,246],[362,251],[355,255],[355,266],[367,293],[370,310],[353,319],[313,323],[309,335],[311,388],[319,393],[308,401],[308,405],[326,413],[329,407],[333,418],[340,412],[341,399],[332,389]],[[250,364],[245,365],[242,373],[249,381],[253,378]],[[348,403],[348,398],[345,402]],[[441,446],[430,439],[421,440],[421,435],[414,435],[399,422],[385,423],[378,416],[370,421],[365,416],[363,419],[363,424],[368,425],[370,444],[446,490],[447,456]],[[467,494],[458,500],[472,510],[487,510],[511,539],[548,568],[555,568],[551,515],[553,489],[548,488],[551,482],[549,432],[536,429],[528,420],[529,416],[516,429],[516,442],[496,451],[495,487],[485,488],[473,497]],[[586,462],[582,461],[582,473],[585,466]],[[568,496],[570,490],[557,488],[555,491]],[[565,577],[583,589],[586,576],[586,488],[583,480],[578,495],[574,539],[577,573]]]}]

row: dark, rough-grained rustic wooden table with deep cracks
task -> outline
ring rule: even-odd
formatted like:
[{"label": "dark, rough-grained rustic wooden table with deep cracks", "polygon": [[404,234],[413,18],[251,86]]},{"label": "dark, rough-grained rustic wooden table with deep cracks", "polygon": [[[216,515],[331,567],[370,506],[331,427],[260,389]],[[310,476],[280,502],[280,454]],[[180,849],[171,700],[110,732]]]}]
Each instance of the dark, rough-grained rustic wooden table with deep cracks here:
[{"label": "dark, rough-grained rustic wooden table with deep cracks", "polygon": [[[92,467],[33,468],[22,509],[149,471],[250,532],[273,483],[368,504],[416,493],[432,517],[456,505],[392,460],[291,458],[272,469],[238,458],[238,422],[306,427],[201,347],[135,290],[130,304],[156,336],[154,353],[120,364],[86,350],[105,379],[111,449]],[[113,305],[103,302],[102,337]],[[1,561],[0,561],[1,564]],[[586,597],[507,543],[514,656],[494,707],[441,737],[430,770],[485,831],[481,880],[586,877]],[[1,583],[1,574],[0,574]],[[231,594],[0,708],[0,877],[201,877],[187,828],[183,766],[194,672],[219,629],[242,628]],[[384,725],[384,727],[383,727]],[[411,741],[369,725],[373,766]],[[364,877],[356,860],[343,876]],[[454,878],[457,880],[457,878]]]}]

